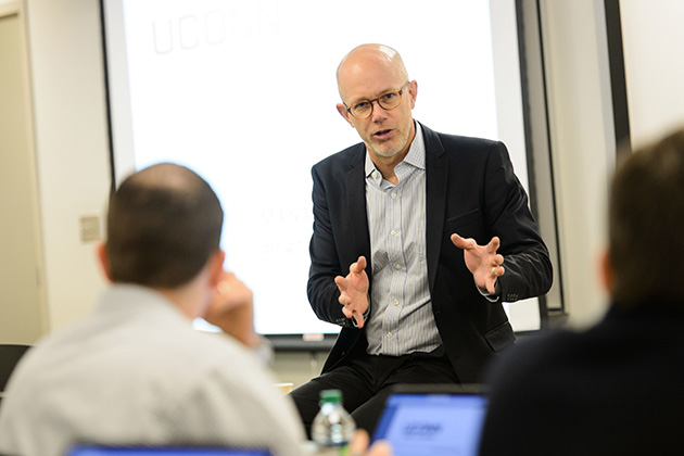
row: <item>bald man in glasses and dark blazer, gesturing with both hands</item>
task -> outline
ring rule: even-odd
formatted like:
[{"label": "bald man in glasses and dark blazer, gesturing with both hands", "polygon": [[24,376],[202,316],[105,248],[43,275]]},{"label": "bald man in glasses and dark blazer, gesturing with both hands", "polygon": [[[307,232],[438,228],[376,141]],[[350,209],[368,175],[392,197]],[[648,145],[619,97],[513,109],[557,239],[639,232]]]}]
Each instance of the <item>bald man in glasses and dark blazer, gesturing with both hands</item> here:
[{"label": "bald man in glasses and dark blazer, gesturing with both hands", "polygon": [[342,327],[322,375],[292,392],[305,426],[338,388],[372,430],[395,383],[477,383],[515,335],[502,302],[550,288],[548,252],[497,141],[414,121],[418,84],[382,45],[338,67],[363,142],[313,168],[308,299]]}]

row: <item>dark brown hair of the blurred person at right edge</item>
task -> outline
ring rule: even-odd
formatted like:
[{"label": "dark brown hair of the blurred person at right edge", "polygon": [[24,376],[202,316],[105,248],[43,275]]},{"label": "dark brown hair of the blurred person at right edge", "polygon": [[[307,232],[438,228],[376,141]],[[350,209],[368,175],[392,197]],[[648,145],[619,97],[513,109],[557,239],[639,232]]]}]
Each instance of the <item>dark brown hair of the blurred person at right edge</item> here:
[{"label": "dark brown hair of the blurred person at right edge", "polygon": [[612,297],[684,302],[684,129],[624,155],[609,201]]}]

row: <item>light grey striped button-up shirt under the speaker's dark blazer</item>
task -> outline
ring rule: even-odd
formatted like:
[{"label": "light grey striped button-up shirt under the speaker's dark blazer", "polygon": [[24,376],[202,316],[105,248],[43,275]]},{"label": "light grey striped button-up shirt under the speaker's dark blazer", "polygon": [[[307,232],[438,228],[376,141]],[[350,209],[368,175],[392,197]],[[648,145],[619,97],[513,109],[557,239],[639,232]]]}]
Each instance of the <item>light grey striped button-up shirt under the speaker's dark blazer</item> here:
[{"label": "light grey striped button-up shirt under the speaker's dark blazer", "polygon": [[434,322],[426,258],[426,148],[420,125],[395,168],[382,178],[366,153],[366,207],[370,230],[372,316],[368,353],[401,356],[431,352],[442,340]]}]

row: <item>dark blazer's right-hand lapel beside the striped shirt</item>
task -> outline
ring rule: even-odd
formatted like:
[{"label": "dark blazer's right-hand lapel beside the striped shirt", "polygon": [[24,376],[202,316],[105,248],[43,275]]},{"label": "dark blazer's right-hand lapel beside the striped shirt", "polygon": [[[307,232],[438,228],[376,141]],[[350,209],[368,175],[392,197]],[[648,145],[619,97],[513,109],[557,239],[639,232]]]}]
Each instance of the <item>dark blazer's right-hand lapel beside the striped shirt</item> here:
[{"label": "dark blazer's right-hand lapel beside the striped shirt", "polygon": [[426,249],[428,282],[433,289],[444,236],[447,159],[438,135],[420,124],[426,143]]}]

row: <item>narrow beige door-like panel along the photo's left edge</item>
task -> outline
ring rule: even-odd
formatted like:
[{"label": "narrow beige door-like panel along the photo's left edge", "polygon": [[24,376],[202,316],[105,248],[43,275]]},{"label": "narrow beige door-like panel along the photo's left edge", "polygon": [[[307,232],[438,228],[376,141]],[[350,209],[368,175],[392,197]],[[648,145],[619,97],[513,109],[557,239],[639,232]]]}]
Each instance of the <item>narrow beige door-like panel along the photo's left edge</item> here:
[{"label": "narrow beige door-like panel along the photo's left edge", "polygon": [[20,344],[47,328],[25,17],[0,2],[0,343]]}]

